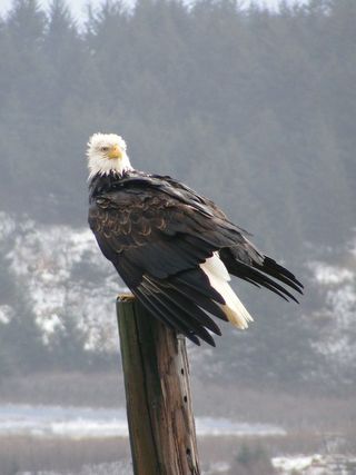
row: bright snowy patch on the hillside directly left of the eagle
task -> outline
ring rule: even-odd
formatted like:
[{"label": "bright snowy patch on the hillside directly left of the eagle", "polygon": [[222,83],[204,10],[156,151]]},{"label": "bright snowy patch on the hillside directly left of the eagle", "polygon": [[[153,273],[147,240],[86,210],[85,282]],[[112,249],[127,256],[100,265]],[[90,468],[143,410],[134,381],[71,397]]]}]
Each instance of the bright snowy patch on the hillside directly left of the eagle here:
[{"label": "bright snowy patch on the hillside directly left of the eagle", "polygon": [[[85,336],[87,349],[111,349],[117,342],[115,300],[123,290],[112,266],[99,251],[90,229],[17,222],[0,214],[0,251],[50,344],[71,320]],[[0,306],[7,323],[11,307]]]}]

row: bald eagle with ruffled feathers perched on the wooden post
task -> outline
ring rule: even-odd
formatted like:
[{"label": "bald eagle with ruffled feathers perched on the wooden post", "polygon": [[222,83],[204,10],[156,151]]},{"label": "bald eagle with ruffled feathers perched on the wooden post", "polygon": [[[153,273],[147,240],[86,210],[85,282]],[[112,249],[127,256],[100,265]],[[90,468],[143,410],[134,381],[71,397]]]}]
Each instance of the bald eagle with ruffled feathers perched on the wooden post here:
[{"label": "bald eagle with ruffled feathers perched on the wooden post", "polygon": [[168,177],[135,170],[125,140],[88,142],[89,226],[122,280],[157,318],[199,345],[221,335],[211,316],[253,321],[230,274],[296,300],[303,285],[260,253],[209,199]]}]

